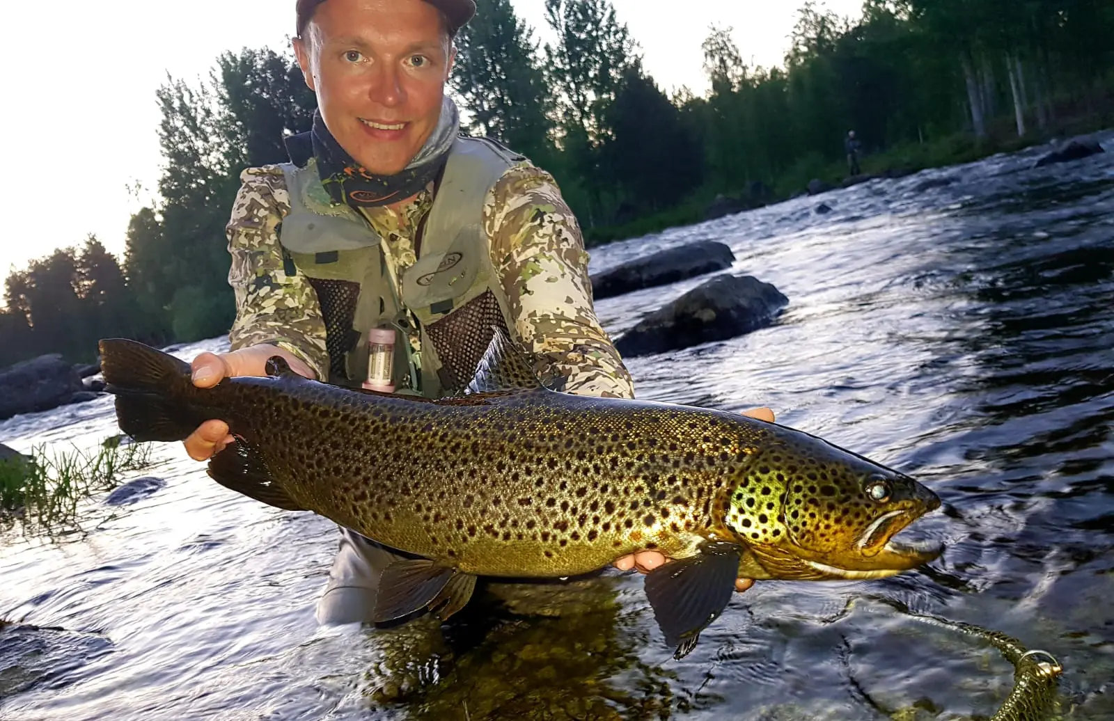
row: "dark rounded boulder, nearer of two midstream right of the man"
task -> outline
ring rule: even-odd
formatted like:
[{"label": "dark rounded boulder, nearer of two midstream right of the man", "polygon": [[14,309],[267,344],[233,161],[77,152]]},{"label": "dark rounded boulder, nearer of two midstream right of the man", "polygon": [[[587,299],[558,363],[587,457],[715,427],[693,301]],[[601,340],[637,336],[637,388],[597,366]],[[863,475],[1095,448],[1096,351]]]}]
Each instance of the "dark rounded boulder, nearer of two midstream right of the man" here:
[{"label": "dark rounded boulder, nearer of two midstream right of the man", "polygon": [[769,283],[721,275],[643,318],[615,347],[634,357],[725,340],[770,325],[788,304]]}]

